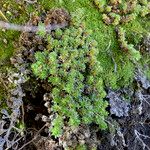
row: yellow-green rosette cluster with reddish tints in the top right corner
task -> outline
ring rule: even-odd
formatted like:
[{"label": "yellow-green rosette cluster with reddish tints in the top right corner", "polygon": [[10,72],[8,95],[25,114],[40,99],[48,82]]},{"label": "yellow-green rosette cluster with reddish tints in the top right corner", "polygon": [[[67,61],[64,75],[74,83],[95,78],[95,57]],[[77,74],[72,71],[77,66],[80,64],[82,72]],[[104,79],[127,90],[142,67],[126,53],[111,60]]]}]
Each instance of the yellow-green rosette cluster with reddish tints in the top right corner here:
[{"label": "yellow-green rosette cluster with reddish tints in the top right corner", "polygon": [[124,24],[136,17],[145,17],[150,13],[148,1],[142,0],[93,0],[96,7],[103,13],[103,21],[106,24]]}]

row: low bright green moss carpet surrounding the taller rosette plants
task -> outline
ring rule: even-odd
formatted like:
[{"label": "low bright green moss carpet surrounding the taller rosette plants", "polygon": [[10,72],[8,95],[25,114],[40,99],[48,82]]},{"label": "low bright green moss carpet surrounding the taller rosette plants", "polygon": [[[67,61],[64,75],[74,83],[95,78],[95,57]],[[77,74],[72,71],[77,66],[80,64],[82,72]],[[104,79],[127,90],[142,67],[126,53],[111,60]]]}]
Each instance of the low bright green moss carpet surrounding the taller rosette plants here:
[{"label": "low bright green moss carpet surrounding the taller rosette plants", "polygon": [[[93,5],[92,0],[38,0],[29,4],[16,0],[1,0],[0,9],[11,23],[25,24],[30,13],[41,13],[51,8],[66,8],[74,12],[82,8],[85,13],[86,27],[92,30],[92,36],[98,42],[99,61],[104,74],[102,77],[108,87],[114,89],[124,87],[132,82],[134,64],[129,60],[118,44],[115,27],[106,25],[102,21],[102,14]],[[126,31],[127,41],[137,45],[143,35],[150,32],[150,19],[137,18],[126,25],[121,25]],[[0,65],[9,65],[9,58],[17,48],[20,32],[0,30]],[[6,39],[6,40],[4,40]],[[5,43],[7,41],[7,43]],[[116,70],[115,70],[116,66]]]}]

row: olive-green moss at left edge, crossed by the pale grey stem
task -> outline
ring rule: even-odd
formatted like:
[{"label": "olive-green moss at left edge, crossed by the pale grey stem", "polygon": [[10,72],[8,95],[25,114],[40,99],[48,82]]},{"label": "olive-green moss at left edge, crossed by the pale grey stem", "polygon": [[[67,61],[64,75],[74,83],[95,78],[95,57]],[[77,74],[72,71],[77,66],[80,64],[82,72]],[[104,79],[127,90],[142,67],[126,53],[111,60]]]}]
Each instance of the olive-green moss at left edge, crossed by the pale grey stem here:
[{"label": "olive-green moss at left edge, crossed by the pale grey stem", "polygon": [[[10,23],[24,24],[28,20],[28,13],[23,3],[16,3],[15,0],[2,0],[0,6]],[[18,43],[19,35],[20,32],[17,31],[0,29],[0,64],[6,62],[9,64],[9,58],[18,46],[16,43]]]}]

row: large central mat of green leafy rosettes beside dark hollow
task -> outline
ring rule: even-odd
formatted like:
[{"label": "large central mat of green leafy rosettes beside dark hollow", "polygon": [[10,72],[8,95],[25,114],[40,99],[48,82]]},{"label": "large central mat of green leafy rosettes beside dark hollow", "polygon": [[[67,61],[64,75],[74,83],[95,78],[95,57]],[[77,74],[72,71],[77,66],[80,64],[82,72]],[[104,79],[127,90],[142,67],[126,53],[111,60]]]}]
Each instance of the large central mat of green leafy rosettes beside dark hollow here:
[{"label": "large central mat of green leafy rosettes beside dark hollow", "polygon": [[49,107],[54,117],[50,131],[55,137],[63,133],[64,125],[96,123],[107,128],[108,104],[103,100],[106,94],[97,43],[79,17],[74,17],[69,28],[47,33],[47,49],[36,52],[31,65],[35,76],[51,87]]}]

